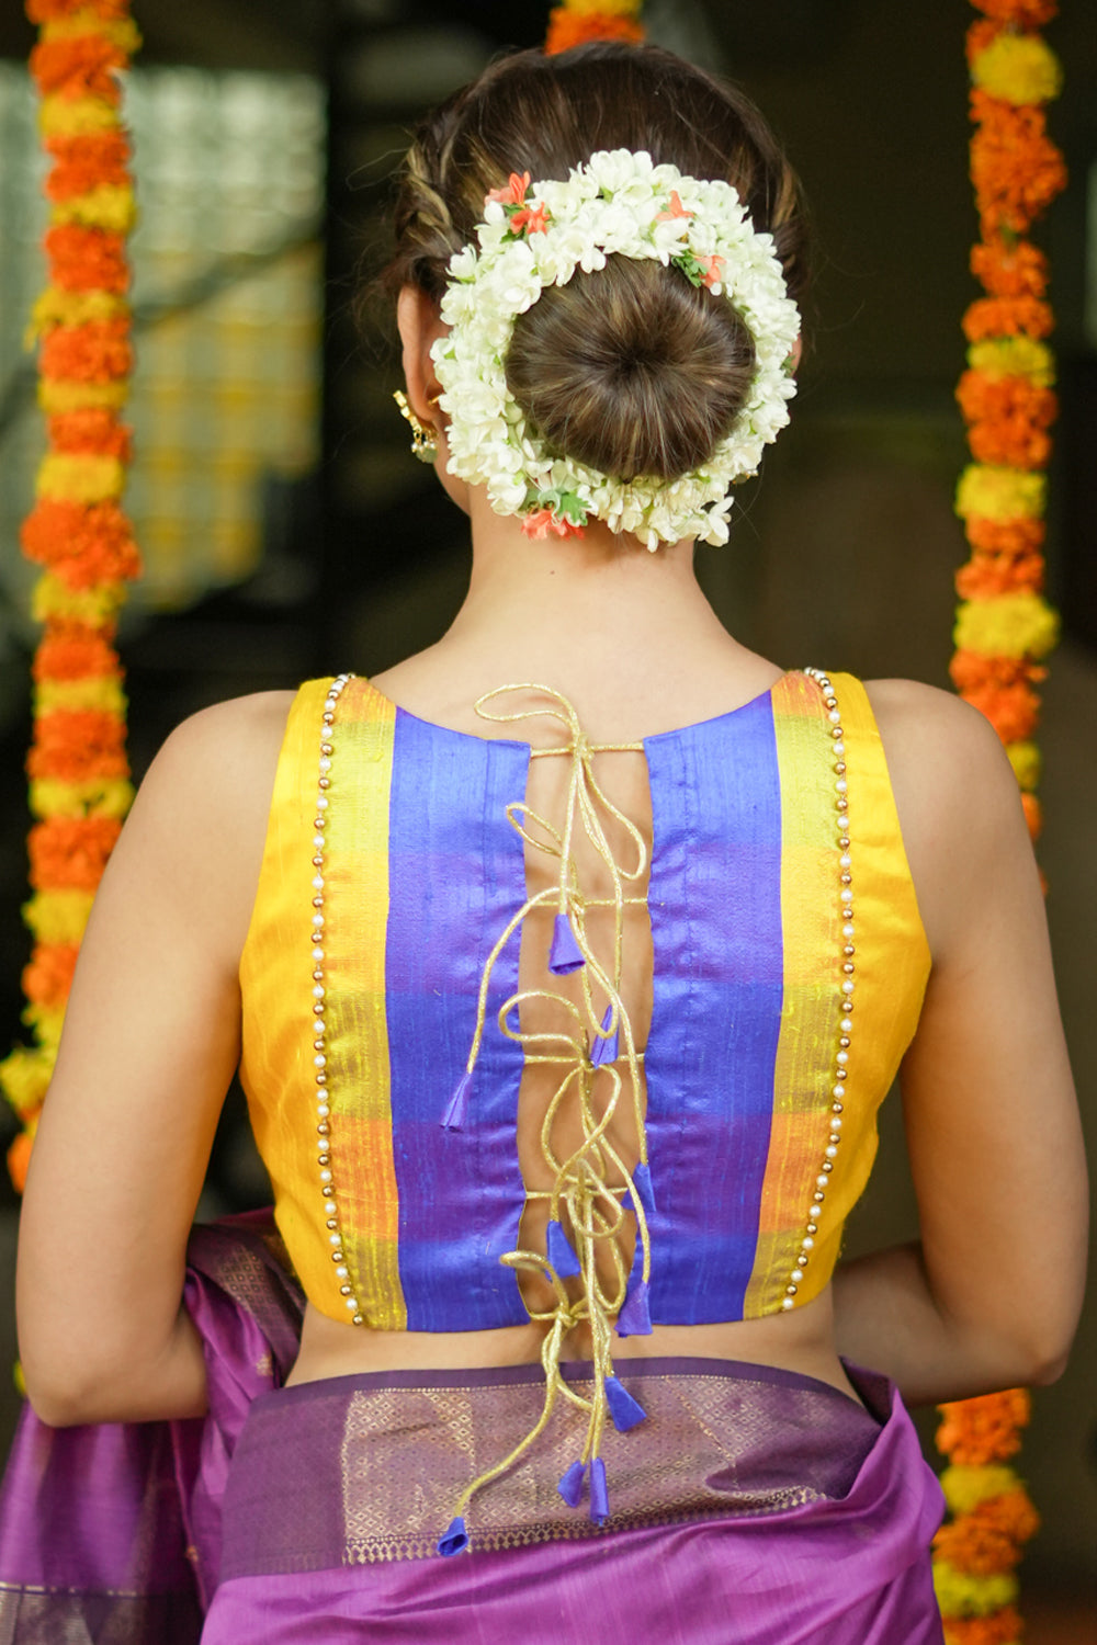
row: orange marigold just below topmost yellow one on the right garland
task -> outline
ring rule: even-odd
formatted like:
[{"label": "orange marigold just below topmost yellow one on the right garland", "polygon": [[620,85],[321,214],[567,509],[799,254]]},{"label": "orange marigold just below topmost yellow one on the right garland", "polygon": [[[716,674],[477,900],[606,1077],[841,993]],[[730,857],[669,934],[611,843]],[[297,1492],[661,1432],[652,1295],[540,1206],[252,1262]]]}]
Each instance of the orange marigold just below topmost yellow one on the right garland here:
[{"label": "orange marigold just below topmost yellow one on the right garland", "polygon": [[984,240],[1025,234],[1066,188],[1066,163],[1048,137],[1043,109],[974,90],[972,183]]}]

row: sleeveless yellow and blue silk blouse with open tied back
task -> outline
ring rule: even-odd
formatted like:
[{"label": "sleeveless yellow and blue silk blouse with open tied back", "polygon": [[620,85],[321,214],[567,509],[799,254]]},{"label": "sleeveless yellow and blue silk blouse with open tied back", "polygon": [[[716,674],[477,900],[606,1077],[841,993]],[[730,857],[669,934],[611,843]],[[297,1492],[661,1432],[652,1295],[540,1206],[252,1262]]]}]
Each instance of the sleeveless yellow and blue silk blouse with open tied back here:
[{"label": "sleeveless yellow and blue silk blouse with open tied back", "polygon": [[[863,686],[831,683],[837,780],[839,714],[804,673],[643,739],[655,1324],[757,1318],[824,1290],[918,1023],[929,948],[880,734]],[[531,748],[429,724],[354,678],[324,727],[331,686],[304,684],[289,711],[240,962],[240,1074],[276,1221],[309,1301],[334,1319],[525,1324],[500,1265],[525,1204],[523,1048],[495,1026],[518,989],[516,938],[490,972],[469,1120],[442,1119],[485,962],[526,901],[507,806],[525,796]]]}]

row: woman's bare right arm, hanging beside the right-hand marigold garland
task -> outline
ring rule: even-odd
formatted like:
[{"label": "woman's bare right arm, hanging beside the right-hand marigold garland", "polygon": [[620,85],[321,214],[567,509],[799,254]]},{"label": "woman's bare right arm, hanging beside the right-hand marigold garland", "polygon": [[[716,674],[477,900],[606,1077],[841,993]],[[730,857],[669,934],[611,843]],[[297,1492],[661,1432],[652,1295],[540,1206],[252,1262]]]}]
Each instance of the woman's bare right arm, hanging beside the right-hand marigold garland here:
[{"label": "woman's bare right arm, hanging beside the right-hand marigold garland", "polygon": [[1082,1300],[1087,1193],[1016,780],[957,699],[906,681],[870,694],[933,951],[901,1076],[921,1242],[839,1267],[839,1351],[911,1402],[1051,1382]]}]

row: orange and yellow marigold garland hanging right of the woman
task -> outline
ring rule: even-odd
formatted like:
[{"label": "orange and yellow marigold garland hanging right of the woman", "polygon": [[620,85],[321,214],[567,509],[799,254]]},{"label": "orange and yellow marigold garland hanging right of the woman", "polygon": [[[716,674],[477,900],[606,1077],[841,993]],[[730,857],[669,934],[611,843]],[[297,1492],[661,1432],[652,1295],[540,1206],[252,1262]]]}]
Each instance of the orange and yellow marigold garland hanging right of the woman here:
[{"label": "orange and yellow marigold garland hanging right of the woman", "polygon": [[[1036,30],[1056,0],[972,0],[982,16],[967,31],[975,132],[970,173],[980,242],[970,268],[984,288],[964,314],[967,370],[956,396],[972,462],[956,512],[970,559],[956,577],[960,599],[956,689],[979,707],[1005,744],[1033,839],[1041,811],[1041,666],[1059,619],[1043,597],[1044,469],[1056,419],[1054,357],[1044,339],[1048,258],[1026,239],[1066,183],[1062,155],[1048,137],[1044,104],[1059,94],[1059,59]],[[1007,1466],[1028,1423],[1025,1390],[942,1405],[937,1448],[949,1459],[941,1484],[951,1510],[934,1540],[934,1582],[947,1645],[1018,1645],[1015,1568],[1038,1528],[1036,1512]]]}]

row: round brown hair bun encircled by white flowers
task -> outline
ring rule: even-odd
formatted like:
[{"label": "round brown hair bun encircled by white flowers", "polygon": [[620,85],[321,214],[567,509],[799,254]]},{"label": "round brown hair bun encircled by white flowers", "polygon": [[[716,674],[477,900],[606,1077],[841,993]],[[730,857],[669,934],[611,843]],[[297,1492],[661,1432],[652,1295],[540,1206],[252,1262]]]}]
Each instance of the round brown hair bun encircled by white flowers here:
[{"label": "round brown hair bun encircled by white flowers", "polygon": [[725,298],[623,257],[548,286],[507,355],[507,385],[541,439],[622,480],[701,467],[753,370],[753,337]]}]

